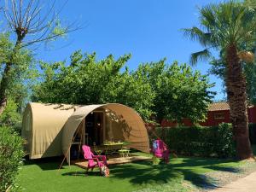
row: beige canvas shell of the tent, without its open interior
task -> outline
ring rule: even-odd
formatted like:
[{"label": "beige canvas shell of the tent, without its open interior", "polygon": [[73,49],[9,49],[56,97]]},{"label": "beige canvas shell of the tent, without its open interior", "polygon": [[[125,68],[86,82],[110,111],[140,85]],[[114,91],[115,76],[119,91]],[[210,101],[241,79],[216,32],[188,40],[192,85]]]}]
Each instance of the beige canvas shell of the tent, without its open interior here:
[{"label": "beige canvas shell of the tent, without its open interior", "polygon": [[132,108],[122,104],[73,106],[62,104],[30,103],[24,112],[22,136],[26,138],[26,151],[31,159],[66,155],[75,132],[85,117],[102,108],[105,113],[118,117],[119,129],[129,147],[149,151],[148,132],[143,119]]}]

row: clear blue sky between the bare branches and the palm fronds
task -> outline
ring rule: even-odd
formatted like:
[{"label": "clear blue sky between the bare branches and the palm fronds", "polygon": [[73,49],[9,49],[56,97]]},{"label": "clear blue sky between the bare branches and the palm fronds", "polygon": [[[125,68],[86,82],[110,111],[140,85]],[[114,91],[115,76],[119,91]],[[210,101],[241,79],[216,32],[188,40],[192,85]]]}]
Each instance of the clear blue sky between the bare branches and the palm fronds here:
[{"label": "clear blue sky between the bare branches and the palm fronds", "polygon": [[[74,3],[75,2],[75,3]],[[73,51],[96,52],[98,59],[109,54],[115,57],[131,53],[127,66],[136,69],[139,63],[159,61],[168,63],[189,61],[192,52],[201,46],[183,36],[182,28],[198,25],[198,7],[212,0],[76,0],[68,1],[61,12],[61,20],[79,20],[84,29],[70,33],[66,42],[40,50],[38,58],[62,61]],[[61,6],[64,1],[58,1]],[[62,45],[65,45],[62,47]],[[62,48],[61,48],[62,47]],[[198,63],[195,69],[207,73],[209,65]],[[222,99],[222,81],[210,76],[212,89]]]}]

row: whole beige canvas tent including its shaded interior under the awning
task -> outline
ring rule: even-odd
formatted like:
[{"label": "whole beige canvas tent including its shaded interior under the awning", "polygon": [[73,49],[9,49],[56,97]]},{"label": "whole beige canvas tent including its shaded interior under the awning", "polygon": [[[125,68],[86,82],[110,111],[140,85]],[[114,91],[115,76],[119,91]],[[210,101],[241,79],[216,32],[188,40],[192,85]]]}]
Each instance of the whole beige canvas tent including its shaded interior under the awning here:
[{"label": "whole beige canvas tent including its shaded interior under the awning", "polygon": [[130,148],[149,151],[143,119],[132,108],[117,103],[74,106],[32,102],[26,106],[21,134],[30,159],[69,154],[76,139],[89,145],[125,141]]}]

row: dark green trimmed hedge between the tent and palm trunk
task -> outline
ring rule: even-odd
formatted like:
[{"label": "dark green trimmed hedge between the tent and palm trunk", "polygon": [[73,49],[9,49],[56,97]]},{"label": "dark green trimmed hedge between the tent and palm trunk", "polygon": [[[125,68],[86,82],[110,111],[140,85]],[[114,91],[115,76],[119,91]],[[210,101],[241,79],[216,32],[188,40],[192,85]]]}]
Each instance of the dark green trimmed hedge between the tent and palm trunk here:
[{"label": "dark green trimmed hedge between the tent and palm trunk", "polygon": [[232,126],[157,128],[169,148],[177,154],[195,156],[235,156]]}]

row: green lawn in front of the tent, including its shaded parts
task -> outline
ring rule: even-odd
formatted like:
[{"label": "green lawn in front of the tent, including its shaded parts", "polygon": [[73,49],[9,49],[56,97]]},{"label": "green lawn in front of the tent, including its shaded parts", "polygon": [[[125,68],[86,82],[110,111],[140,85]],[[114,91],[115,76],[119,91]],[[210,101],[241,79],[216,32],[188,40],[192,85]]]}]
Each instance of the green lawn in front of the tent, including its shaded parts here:
[{"label": "green lawn in front of the tent, including its shaded parts", "polygon": [[[110,166],[110,177],[101,177],[96,168],[89,175],[77,166],[58,167],[61,159],[26,160],[18,176],[21,187],[35,191],[190,191],[191,185],[210,185],[201,173],[214,170],[238,172],[241,162],[203,158],[171,159],[168,165],[153,166],[151,161],[140,161]],[[191,183],[191,184],[190,184]],[[163,188],[165,186],[165,188]]]}]

